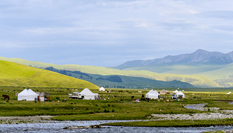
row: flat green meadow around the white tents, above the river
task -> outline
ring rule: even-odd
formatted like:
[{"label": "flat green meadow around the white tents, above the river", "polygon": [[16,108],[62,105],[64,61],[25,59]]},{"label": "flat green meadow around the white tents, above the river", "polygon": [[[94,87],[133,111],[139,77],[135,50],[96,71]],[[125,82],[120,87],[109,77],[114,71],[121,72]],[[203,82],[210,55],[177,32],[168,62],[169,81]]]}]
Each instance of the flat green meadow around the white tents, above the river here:
[{"label": "flat green meadow around the white tents, above the river", "polygon": [[[151,114],[192,114],[204,111],[189,110],[183,106],[186,104],[208,103],[207,107],[219,107],[220,109],[233,110],[233,105],[222,100],[232,100],[233,95],[226,95],[231,90],[212,90],[212,92],[200,92],[195,90],[185,91],[186,99],[181,101],[150,100],[149,102],[135,102],[142,94],[149,90],[113,90],[111,93],[99,92],[92,89],[94,93],[99,93],[103,100],[76,100],[69,99],[68,94],[75,90],[71,88],[42,88],[32,87],[35,92],[47,92],[51,101],[54,102],[27,102],[17,101],[16,92],[22,91],[23,87],[0,87],[2,94],[10,95],[9,101],[0,100],[0,116],[34,116],[52,115],[54,120],[137,120],[150,119]],[[110,89],[109,89],[110,90]],[[131,98],[134,96],[134,98]],[[171,94],[161,95],[170,99]],[[107,100],[109,98],[109,100]],[[62,102],[67,99],[66,102]],[[221,101],[220,101],[221,100]],[[58,102],[59,101],[59,102]]]}]

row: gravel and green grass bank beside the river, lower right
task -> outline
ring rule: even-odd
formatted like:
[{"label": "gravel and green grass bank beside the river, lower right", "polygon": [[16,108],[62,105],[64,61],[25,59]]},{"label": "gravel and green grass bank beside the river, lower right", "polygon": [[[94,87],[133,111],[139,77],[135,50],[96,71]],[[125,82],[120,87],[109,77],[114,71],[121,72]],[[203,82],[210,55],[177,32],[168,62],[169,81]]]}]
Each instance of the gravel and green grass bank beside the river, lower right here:
[{"label": "gravel and green grass bank beside the river, lower right", "polygon": [[206,127],[233,126],[233,111],[221,110],[218,113],[190,114],[151,114],[151,120],[141,122],[107,123],[107,126],[133,127]]}]

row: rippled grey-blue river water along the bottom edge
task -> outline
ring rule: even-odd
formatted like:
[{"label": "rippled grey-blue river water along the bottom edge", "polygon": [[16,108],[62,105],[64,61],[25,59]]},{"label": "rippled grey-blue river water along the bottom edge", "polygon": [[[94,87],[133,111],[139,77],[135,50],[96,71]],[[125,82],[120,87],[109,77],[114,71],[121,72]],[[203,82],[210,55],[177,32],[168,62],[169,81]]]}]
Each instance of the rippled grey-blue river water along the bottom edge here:
[{"label": "rippled grey-blue river water along the bottom edge", "polygon": [[[63,129],[64,127],[90,126],[102,123],[120,122],[120,121],[56,121],[53,123],[22,123],[22,124],[0,124],[0,133],[3,132],[29,132],[29,133],[200,133],[211,130],[232,130],[232,126],[218,127],[105,127],[95,129]],[[121,121],[122,122],[122,121]]]}]

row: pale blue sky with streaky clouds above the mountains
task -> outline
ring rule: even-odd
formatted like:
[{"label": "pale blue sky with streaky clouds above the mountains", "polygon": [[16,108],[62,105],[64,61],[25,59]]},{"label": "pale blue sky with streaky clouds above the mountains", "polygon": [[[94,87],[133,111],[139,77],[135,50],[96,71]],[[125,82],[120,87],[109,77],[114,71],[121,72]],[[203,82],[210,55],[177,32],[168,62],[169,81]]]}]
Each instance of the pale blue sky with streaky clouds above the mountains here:
[{"label": "pale blue sky with streaky clouds above the mountains", "polygon": [[0,56],[113,67],[233,51],[232,0],[0,0]]}]

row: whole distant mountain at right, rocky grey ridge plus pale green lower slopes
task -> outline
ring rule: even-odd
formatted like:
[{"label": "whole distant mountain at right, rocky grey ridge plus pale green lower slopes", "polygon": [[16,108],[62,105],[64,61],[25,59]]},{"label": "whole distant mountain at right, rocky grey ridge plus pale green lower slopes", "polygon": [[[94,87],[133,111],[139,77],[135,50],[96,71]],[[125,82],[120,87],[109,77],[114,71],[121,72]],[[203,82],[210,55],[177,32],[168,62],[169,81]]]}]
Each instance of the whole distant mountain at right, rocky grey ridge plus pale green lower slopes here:
[{"label": "whole distant mountain at right, rocky grey ridge plus pale green lower slopes", "polygon": [[233,52],[224,54],[199,49],[190,54],[128,61],[115,68],[160,74],[200,75],[210,78],[221,87],[233,87]]}]

